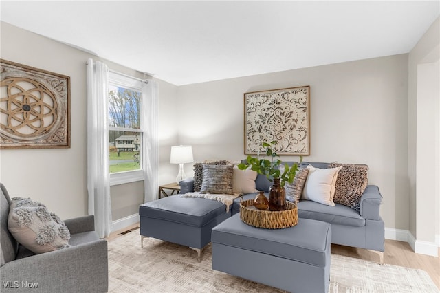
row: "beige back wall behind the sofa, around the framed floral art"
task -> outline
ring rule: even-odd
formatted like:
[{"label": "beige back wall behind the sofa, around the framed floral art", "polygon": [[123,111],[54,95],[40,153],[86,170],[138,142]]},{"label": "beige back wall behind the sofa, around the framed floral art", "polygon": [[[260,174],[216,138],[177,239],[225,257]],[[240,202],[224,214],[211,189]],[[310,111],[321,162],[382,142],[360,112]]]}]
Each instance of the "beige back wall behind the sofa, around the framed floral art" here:
[{"label": "beige back wall behind the sofa, around the framed floral art", "polygon": [[304,160],[368,164],[386,227],[408,229],[407,82],[401,54],[181,86],[179,143],[193,146],[195,160],[244,158],[243,93],[310,85]]}]

